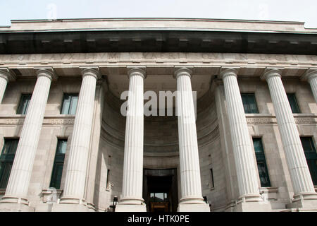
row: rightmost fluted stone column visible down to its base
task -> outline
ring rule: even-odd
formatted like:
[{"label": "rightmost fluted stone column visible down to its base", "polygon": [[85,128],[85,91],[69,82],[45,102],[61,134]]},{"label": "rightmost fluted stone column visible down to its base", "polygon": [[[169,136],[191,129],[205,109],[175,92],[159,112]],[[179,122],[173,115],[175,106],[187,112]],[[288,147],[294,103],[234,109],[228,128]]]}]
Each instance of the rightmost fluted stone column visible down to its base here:
[{"label": "rightmost fluted stone column visible down to its base", "polygon": [[263,74],[262,78],[268,82],[268,88],[271,93],[278,129],[294,189],[294,201],[301,198],[317,198],[292,109],[282,84],[280,70],[268,70]]}]

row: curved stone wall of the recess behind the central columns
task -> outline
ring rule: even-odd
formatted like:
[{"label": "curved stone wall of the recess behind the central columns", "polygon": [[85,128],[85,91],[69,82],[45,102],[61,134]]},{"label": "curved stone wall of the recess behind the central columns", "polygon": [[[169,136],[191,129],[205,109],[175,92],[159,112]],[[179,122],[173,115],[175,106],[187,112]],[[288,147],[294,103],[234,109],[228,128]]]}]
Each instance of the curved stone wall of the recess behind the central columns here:
[{"label": "curved stone wall of the recess behind the central columns", "polygon": [[[123,101],[110,91],[105,94],[104,100],[101,145],[97,164],[97,170],[101,169],[102,179],[97,179],[99,192],[95,194],[98,198],[94,198],[95,205],[101,209],[110,205],[113,196],[120,197],[125,139],[125,117],[120,114]],[[226,203],[225,174],[216,103],[211,90],[197,100],[197,137],[203,196],[207,196],[208,201],[213,203],[213,208],[224,206]],[[179,170],[177,117],[144,116],[144,168],[178,168]],[[214,188],[211,182],[211,168],[213,169],[213,184],[217,184]],[[107,169],[110,169],[108,183],[113,184],[110,189],[107,189],[106,183]]]}]

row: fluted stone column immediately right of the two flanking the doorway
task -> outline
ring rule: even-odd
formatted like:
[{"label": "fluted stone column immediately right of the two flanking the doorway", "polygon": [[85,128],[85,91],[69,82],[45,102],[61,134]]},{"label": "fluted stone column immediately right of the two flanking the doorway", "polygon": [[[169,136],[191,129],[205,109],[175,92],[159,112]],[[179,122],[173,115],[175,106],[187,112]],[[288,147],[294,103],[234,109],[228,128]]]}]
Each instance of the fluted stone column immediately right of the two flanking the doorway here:
[{"label": "fluted stone column immediately right of the two flanking the doorway", "polygon": [[237,83],[237,71],[225,69],[220,73],[225,88],[225,101],[230,124],[232,149],[235,157],[239,199],[261,201],[258,172],[250,141],[247,119],[245,118],[242,97]]}]

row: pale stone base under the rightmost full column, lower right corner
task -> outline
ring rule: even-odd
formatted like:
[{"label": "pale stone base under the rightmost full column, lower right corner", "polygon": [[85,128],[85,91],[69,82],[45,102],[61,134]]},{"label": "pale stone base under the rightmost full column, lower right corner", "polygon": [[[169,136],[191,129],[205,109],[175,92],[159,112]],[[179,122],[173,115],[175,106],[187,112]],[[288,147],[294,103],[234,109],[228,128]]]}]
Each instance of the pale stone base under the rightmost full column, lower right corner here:
[{"label": "pale stone base under the rightmost full column, lower right corner", "polygon": [[292,203],[286,205],[292,211],[317,211],[317,194],[299,194],[294,196]]}]

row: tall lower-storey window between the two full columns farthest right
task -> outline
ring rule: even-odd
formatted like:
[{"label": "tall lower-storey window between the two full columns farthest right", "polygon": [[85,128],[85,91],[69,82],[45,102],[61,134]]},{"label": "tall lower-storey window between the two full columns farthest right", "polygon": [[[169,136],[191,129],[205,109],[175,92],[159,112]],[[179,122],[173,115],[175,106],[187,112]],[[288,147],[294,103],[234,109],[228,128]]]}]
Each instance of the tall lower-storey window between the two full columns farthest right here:
[{"label": "tall lower-storey window between the two full columns farthest right", "polygon": [[252,139],[256,154],[256,164],[258,165],[261,187],[271,186],[270,178],[268,177],[268,167],[266,165],[266,156],[264,155],[262,140],[261,138]]}]

